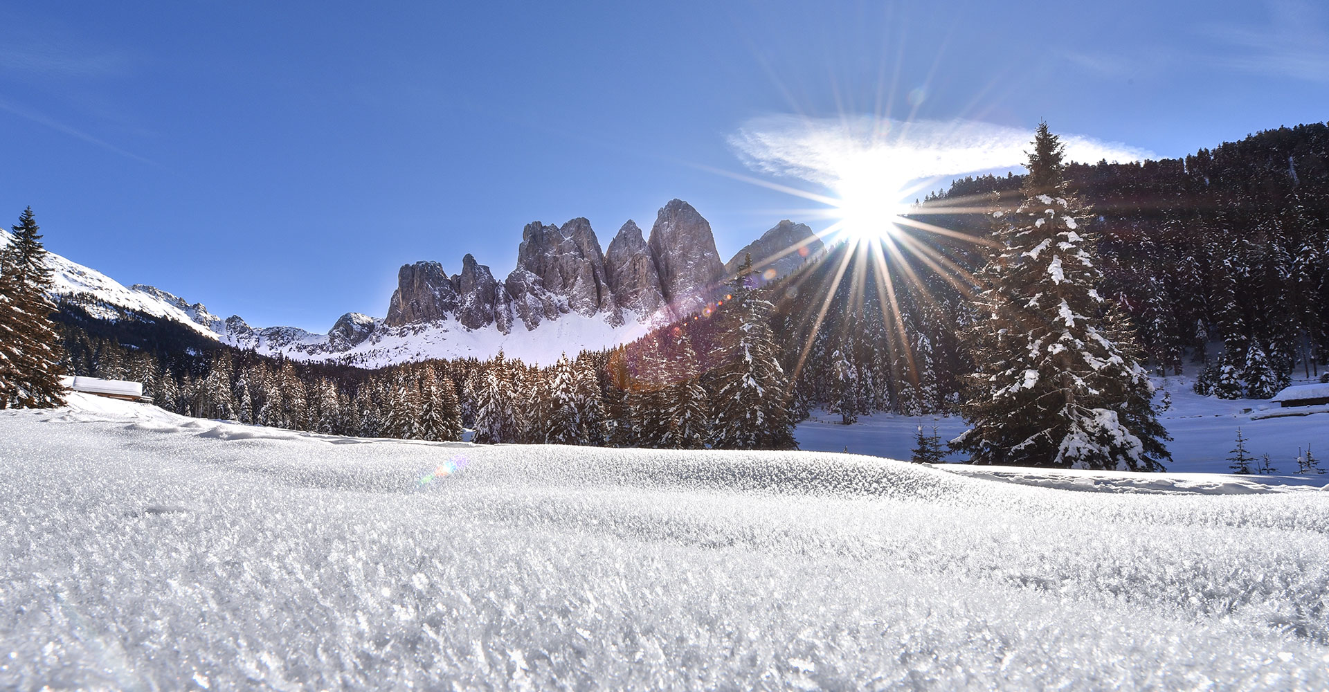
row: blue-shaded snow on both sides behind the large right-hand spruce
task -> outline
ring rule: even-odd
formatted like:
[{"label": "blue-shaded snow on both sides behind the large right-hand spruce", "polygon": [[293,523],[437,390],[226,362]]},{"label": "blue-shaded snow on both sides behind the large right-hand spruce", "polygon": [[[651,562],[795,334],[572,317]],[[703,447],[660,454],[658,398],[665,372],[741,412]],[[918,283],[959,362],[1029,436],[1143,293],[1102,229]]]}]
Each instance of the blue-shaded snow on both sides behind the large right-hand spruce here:
[{"label": "blue-shaded snow on both sides behind the large right-hand spruce", "polygon": [[[1264,400],[1239,398],[1225,401],[1201,397],[1192,390],[1191,377],[1164,377],[1155,380],[1159,387],[1155,402],[1163,392],[1172,397],[1172,406],[1159,414],[1172,441],[1167,444],[1172,461],[1170,472],[1229,473],[1228,450],[1236,446],[1237,428],[1247,437],[1247,452],[1256,460],[1269,454],[1280,476],[1297,470],[1297,449],[1306,445],[1314,452],[1320,468],[1329,470],[1329,412],[1312,416],[1261,418],[1261,413],[1277,409],[1277,404]],[[1301,383],[1297,383],[1301,384]],[[1261,410],[1267,409],[1267,410]],[[910,457],[916,446],[914,434],[920,425],[932,434],[932,426],[942,441],[965,432],[965,421],[958,416],[861,416],[855,425],[840,425],[840,416],[815,412],[813,420],[803,421],[795,430],[799,448],[812,452],[844,452],[855,454],[902,458]],[[952,454],[946,461],[964,462],[964,454]],[[1321,477],[1329,483],[1329,474]]]}]

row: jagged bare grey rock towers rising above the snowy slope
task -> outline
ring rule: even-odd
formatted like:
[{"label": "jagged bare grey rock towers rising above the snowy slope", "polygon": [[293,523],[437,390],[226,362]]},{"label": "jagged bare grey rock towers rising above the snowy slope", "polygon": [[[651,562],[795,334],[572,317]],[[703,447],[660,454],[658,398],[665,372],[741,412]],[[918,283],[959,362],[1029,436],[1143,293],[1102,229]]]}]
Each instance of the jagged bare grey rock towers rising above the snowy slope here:
[{"label": "jagged bare grey rock towers rising above the snowy slope", "polygon": [[[800,232],[811,234],[807,226],[777,226],[767,234],[768,244]],[[585,218],[562,226],[528,223],[517,247],[517,268],[504,280],[472,255],[462,258],[461,272],[453,276],[437,262],[405,264],[383,325],[456,320],[468,329],[494,325],[509,333],[517,324],[534,331],[571,312],[598,316],[611,327],[623,323],[625,312],[643,321],[676,319],[700,309],[723,278],[711,224],[691,205],[674,199],[659,210],[649,240],[629,220],[609,252],[601,250]],[[338,344],[354,345],[375,329],[373,320],[363,319],[338,325],[339,336],[330,335]],[[363,333],[365,328],[369,333]]]}]

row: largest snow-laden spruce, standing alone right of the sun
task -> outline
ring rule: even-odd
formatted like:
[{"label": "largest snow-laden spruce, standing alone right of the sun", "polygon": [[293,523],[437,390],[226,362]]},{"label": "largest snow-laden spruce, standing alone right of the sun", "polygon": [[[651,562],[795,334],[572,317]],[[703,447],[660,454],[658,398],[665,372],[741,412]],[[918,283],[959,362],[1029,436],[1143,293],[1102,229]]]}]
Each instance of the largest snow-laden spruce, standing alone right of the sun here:
[{"label": "largest snow-laden spruce, standing alone right of the sun", "polygon": [[968,329],[975,372],[953,445],[974,464],[1162,470],[1170,458],[1152,385],[1112,324],[1084,210],[1062,177],[1046,124],[1029,154],[1022,202],[995,210],[995,248]]}]

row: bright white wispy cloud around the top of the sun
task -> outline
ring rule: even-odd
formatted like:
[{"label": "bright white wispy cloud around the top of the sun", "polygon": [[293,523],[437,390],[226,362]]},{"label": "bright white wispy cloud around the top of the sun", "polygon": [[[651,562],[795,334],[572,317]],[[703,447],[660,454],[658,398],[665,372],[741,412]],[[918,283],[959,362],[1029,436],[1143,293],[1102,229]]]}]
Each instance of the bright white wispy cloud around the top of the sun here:
[{"label": "bright white wispy cloud around the top of the sun", "polygon": [[[1058,134],[1070,161],[1156,158],[1120,142]],[[1031,139],[1033,130],[966,120],[767,116],[746,122],[730,145],[752,170],[835,187],[864,171],[908,182],[1014,167],[1029,159]]]}]

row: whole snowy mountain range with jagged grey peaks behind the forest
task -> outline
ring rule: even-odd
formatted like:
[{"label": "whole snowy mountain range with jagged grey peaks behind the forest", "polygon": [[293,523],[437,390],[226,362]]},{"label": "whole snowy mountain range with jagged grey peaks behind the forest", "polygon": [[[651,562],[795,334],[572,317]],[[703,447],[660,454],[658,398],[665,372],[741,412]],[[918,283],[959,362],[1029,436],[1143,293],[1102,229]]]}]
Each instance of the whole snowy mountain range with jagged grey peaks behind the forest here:
[{"label": "whole snowy mountain range with jagged grey peaks behind the forest", "polygon": [[264,355],[372,368],[428,357],[486,359],[500,349],[552,363],[560,352],[626,343],[700,311],[744,255],[773,279],[821,251],[808,226],[781,220],[722,263],[711,224],[680,199],[659,210],[649,236],[633,220],[623,223],[607,250],[585,218],[562,226],[533,222],[522,228],[517,267],[506,278],[494,278],[469,254],[451,276],[439,262],[405,264],[383,317],[348,312],[327,333],[255,328],[238,315],[222,319],[202,303],[153,286],[125,287],[54,254],[51,266],[54,298],[93,319],[165,320]]}]

